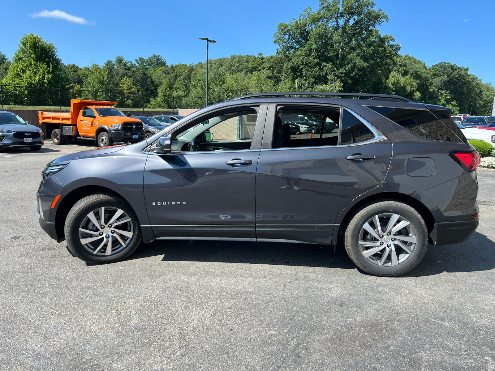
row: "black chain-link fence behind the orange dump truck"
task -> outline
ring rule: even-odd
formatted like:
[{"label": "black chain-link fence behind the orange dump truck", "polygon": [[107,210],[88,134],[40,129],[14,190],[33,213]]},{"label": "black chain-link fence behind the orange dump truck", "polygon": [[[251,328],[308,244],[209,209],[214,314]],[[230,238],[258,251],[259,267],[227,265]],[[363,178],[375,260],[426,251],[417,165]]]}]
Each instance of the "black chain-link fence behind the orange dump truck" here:
[{"label": "black chain-link fence behind the orange dump truck", "polygon": [[[202,108],[201,96],[148,93],[105,92],[83,89],[57,89],[0,85],[1,109],[70,110],[71,99],[107,100],[117,102],[117,108],[134,110]],[[223,99],[208,97],[209,104]]]}]

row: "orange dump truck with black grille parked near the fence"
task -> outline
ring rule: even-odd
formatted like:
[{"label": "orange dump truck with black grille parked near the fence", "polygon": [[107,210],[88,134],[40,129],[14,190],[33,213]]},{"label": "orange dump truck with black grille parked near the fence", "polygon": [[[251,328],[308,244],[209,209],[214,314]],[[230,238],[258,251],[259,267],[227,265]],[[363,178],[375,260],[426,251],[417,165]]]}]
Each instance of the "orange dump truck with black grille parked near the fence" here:
[{"label": "orange dump truck with black grille parked near the fence", "polygon": [[68,139],[96,140],[100,147],[114,141],[134,143],[145,138],[143,123],[127,117],[117,102],[71,99],[70,112],[38,112],[39,124],[45,124],[45,133],[51,133],[53,144],[64,144]]}]

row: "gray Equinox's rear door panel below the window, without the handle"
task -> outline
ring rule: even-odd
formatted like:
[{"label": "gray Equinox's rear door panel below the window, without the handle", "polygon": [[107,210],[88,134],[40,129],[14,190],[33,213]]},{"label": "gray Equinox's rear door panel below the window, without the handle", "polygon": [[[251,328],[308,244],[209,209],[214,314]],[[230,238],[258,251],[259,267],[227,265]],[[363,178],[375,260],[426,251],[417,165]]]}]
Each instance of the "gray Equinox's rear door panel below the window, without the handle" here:
[{"label": "gray Equinox's rear door panel below the window, without the handle", "polygon": [[[356,153],[375,158],[362,162],[346,158]],[[272,225],[274,231],[257,228],[257,238],[280,238],[275,237],[277,226],[285,231],[283,225],[335,224],[352,199],[383,181],[391,154],[388,139],[349,146],[262,150],[256,174],[256,225]],[[329,226],[328,243],[332,231]],[[298,238],[294,234],[293,239]],[[320,236],[314,242],[324,241]]]}]

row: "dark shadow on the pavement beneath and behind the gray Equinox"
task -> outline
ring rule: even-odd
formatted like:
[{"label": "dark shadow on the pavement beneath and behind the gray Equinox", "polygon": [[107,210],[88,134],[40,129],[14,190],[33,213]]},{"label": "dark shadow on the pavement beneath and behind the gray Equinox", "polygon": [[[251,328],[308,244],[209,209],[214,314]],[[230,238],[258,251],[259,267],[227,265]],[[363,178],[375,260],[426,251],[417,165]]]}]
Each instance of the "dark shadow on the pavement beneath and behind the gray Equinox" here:
[{"label": "dark shadow on the pavement beneath and behind the gray Equinox", "polygon": [[[280,242],[156,240],[142,244],[128,259],[163,255],[162,261],[272,264],[301,267],[357,269],[342,240],[333,246]],[[423,277],[443,272],[489,271],[495,268],[495,242],[475,232],[466,242],[428,250],[412,271],[400,277]],[[358,269],[364,275],[367,273]]]}]

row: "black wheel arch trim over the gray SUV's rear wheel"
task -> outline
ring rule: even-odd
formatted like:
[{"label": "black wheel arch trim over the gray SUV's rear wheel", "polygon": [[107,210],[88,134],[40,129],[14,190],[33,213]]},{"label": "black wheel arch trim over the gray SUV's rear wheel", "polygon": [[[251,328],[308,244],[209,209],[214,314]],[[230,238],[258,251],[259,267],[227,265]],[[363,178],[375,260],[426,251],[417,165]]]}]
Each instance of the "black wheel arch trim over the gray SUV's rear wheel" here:
[{"label": "black wheel arch trim over the gray SUV's rear wheel", "polygon": [[411,206],[414,208],[423,218],[426,224],[426,228],[428,230],[428,234],[433,231],[433,228],[435,227],[435,218],[431,211],[419,200],[416,198],[409,196],[408,194],[404,193],[399,193],[399,192],[380,192],[380,193],[375,193],[372,195],[369,195],[367,197],[364,197],[360,200],[357,200],[354,204],[350,203],[347,205],[346,209],[344,212],[339,216],[339,219],[337,220],[338,224],[338,231],[334,230],[334,236],[332,238],[332,244],[337,243],[337,238],[339,235],[343,235],[345,228],[347,227],[347,224],[349,223],[350,219],[363,207],[366,205],[379,202],[383,199],[394,199],[399,202],[403,202],[406,205]]}]

